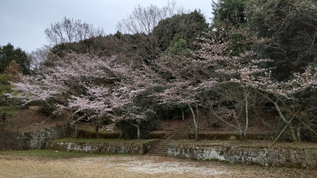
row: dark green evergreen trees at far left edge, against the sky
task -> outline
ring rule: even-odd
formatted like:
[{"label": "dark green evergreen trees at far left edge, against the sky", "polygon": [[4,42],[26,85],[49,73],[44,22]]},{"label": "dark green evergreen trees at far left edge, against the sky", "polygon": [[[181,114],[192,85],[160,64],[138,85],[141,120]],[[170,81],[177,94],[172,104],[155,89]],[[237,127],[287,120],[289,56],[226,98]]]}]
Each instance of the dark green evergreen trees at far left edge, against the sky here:
[{"label": "dark green evergreen trees at far left edge, against the sky", "polygon": [[0,73],[15,60],[23,74],[30,73],[30,62],[25,51],[21,48],[14,48],[11,43],[5,46],[0,46]]}]

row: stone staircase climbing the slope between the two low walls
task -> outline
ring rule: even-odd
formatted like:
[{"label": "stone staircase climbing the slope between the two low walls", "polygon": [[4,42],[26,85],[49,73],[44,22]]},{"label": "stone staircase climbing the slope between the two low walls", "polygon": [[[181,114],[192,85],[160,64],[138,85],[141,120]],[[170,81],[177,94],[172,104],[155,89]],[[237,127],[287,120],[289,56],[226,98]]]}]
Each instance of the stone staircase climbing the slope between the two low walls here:
[{"label": "stone staircase climbing the slope between the two low walls", "polygon": [[[200,119],[199,125],[204,124],[206,120]],[[193,134],[194,132],[194,121],[189,120],[182,128],[178,129],[167,139],[161,140],[157,145],[155,145],[147,155],[150,156],[167,156],[167,148],[171,142],[175,140],[183,140],[187,139],[189,134]]]}]

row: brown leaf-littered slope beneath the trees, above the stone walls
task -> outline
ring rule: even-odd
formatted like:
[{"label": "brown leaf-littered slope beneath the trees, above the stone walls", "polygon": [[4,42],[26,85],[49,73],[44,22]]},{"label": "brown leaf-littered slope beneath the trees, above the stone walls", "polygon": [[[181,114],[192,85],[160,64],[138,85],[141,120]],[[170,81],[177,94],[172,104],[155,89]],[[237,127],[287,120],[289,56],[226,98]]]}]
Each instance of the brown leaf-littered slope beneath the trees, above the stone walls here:
[{"label": "brown leaf-littered slope beneath the trees, above the stone walls", "polygon": [[[206,115],[200,114],[200,118],[206,118]],[[200,133],[236,133],[228,125],[219,122],[212,114],[209,115],[210,125],[207,123],[202,124],[200,127]],[[270,117],[267,122],[271,125],[276,122],[275,118]],[[181,118],[177,119],[160,119],[162,124],[161,130],[152,131],[153,133],[168,133],[172,130],[180,129],[188,121],[192,120],[191,115],[187,115],[183,121]],[[229,123],[235,124],[234,120],[228,120]],[[38,106],[29,106],[28,109],[17,109],[14,111],[12,117],[6,120],[4,126],[4,132],[31,132],[44,128],[54,127],[56,125],[66,124],[65,118],[55,118],[45,115],[39,111]],[[243,124],[243,123],[242,123]],[[276,125],[276,124],[275,124]],[[119,133],[119,130],[106,130],[103,129],[106,125],[100,124],[100,133]],[[78,122],[78,128],[94,132],[94,125],[89,122]],[[261,121],[255,121],[250,119],[248,133],[266,133],[268,128],[263,125]]]}]

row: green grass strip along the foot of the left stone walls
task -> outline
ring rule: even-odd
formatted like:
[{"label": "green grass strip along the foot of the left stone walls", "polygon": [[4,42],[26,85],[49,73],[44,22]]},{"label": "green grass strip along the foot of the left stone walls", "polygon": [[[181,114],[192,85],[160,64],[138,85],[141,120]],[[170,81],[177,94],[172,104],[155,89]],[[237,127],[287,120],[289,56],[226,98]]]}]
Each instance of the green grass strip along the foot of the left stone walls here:
[{"label": "green grass strip along the foot of the left stone walls", "polygon": [[[31,149],[31,150],[5,150],[0,151],[0,155],[7,156],[38,156],[42,158],[52,158],[52,159],[68,159],[75,157],[85,157],[85,156],[114,156],[111,154],[93,154],[93,153],[79,153],[79,152],[69,152],[69,151],[55,151],[47,149]],[[115,154],[115,156],[126,156],[128,154]]]}]

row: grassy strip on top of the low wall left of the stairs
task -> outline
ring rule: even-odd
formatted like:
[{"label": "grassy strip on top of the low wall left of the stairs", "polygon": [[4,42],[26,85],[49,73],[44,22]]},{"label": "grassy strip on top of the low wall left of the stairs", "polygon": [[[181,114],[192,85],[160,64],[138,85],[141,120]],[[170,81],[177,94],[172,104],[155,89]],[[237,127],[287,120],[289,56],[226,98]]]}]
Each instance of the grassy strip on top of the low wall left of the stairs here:
[{"label": "grassy strip on top of the low wall left of the stairs", "polygon": [[75,139],[75,138],[62,138],[53,140],[53,142],[74,142],[74,143],[146,143],[152,139],[141,140],[120,140],[120,139]]}]

